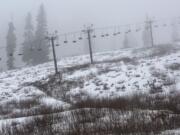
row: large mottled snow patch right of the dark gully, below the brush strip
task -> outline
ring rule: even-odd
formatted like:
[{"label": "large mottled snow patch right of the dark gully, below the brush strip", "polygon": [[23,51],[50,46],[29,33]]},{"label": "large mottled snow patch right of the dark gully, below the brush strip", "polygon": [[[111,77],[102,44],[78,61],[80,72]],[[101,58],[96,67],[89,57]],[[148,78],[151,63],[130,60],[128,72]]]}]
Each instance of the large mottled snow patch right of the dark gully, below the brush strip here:
[{"label": "large mottled snow patch right of the dark gully, below the brush strip", "polygon": [[[149,83],[154,80],[154,86],[162,87],[162,91],[166,94],[170,92],[170,86],[177,85],[180,87],[179,84],[175,84],[175,80],[180,79],[180,71],[171,70],[167,67],[173,63],[180,63],[179,52],[159,58],[140,58],[137,62],[137,64],[122,61],[96,64],[93,67],[95,71],[98,71],[94,74],[95,77],[85,80],[84,87],[72,89],[69,94],[72,97],[86,94],[92,98],[114,98],[138,92],[149,92],[151,89]],[[104,70],[103,73],[101,73],[102,70]],[[77,76],[77,72],[80,71],[76,71],[71,76]],[[82,73],[87,72],[89,69],[82,71]]]}]

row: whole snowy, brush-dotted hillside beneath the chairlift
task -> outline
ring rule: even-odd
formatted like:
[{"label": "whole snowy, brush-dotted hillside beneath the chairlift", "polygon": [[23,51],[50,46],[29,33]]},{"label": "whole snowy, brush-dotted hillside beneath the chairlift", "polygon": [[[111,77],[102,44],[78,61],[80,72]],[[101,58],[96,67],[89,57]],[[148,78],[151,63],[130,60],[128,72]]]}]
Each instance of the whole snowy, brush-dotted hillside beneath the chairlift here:
[{"label": "whole snowy, brush-dotted hillside beneath the chairlift", "polygon": [[[54,116],[56,117],[56,122],[53,123],[55,129],[61,129],[66,133],[68,130],[66,128],[69,127],[72,130],[75,128],[65,126],[62,118],[65,117],[67,121],[73,123],[77,120],[72,120],[73,118],[68,116],[83,109],[81,114],[92,112],[91,114],[96,116],[94,123],[97,125],[103,122],[107,124],[109,121],[107,117],[112,114],[117,116],[114,121],[129,123],[128,119],[131,115],[136,114],[137,118],[134,119],[137,120],[142,116],[145,119],[148,117],[146,124],[152,123],[153,117],[163,115],[166,118],[167,116],[168,119],[161,120],[162,125],[165,125],[164,121],[168,123],[164,130],[180,128],[179,123],[174,121],[180,119],[180,102],[177,100],[180,91],[180,45],[168,44],[153,48],[104,52],[95,54],[94,59],[95,64],[90,65],[88,55],[63,58],[58,62],[62,78],[54,76],[52,62],[0,73],[1,129],[12,125],[21,128],[23,123],[31,123],[34,117],[46,116],[47,120],[50,116]],[[177,100],[175,100],[176,103],[173,99]],[[151,103],[151,100],[155,103]],[[171,101],[174,108],[167,106]],[[149,108],[144,102],[149,103]],[[88,110],[94,108],[101,110]],[[112,110],[106,111],[109,108]],[[57,119],[60,121],[57,122]],[[173,121],[176,126],[168,126],[172,124],[169,121]],[[159,119],[157,119],[158,122]],[[121,123],[122,125],[124,123]],[[91,124],[88,125],[88,127],[91,126],[93,127]],[[99,128],[101,129],[102,125]],[[161,126],[153,129],[153,131],[156,130],[159,134],[174,132],[178,134],[176,130],[160,132],[163,131]],[[132,132],[140,133],[144,130],[142,128],[129,133]],[[149,130],[147,132],[150,133]],[[109,134],[113,133],[109,132]],[[123,130],[121,133],[128,134]]]}]

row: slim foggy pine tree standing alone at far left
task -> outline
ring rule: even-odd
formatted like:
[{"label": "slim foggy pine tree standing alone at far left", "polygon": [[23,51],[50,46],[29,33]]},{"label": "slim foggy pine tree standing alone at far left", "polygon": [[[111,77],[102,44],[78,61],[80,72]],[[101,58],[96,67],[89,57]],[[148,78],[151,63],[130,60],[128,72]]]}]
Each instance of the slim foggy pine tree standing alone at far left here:
[{"label": "slim foggy pine tree standing alone at far left", "polygon": [[15,27],[12,22],[9,23],[9,29],[6,37],[7,67],[9,70],[14,69],[14,52],[16,48]]}]

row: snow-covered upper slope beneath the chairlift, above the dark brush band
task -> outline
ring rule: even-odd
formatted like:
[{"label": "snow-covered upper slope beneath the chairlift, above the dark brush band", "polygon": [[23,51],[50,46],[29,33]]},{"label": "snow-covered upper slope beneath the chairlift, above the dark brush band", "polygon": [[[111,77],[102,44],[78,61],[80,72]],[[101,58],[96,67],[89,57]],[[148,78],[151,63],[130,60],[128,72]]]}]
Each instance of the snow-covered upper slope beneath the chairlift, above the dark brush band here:
[{"label": "snow-covered upper slope beneath the chairlift, above the dark brush band", "polygon": [[[96,54],[94,60],[94,65],[77,69],[72,67],[89,63],[88,55],[63,58],[58,62],[60,71],[74,69],[63,73],[64,81],[83,81],[82,86],[66,93],[72,102],[77,97],[115,98],[142,92],[180,92],[180,45],[104,52]],[[38,97],[41,105],[69,106],[63,99],[51,97],[29,85],[37,81],[46,83],[54,74],[53,66],[53,62],[49,62],[0,73],[0,105]],[[154,88],[161,91],[152,91]]]}]

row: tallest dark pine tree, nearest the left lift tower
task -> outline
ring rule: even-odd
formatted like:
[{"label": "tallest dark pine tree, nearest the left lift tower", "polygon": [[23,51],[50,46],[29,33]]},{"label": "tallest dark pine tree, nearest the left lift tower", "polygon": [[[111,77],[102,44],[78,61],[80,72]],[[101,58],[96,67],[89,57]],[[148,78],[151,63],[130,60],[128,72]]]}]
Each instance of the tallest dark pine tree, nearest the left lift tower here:
[{"label": "tallest dark pine tree, nearest the left lift tower", "polygon": [[35,53],[33,55],[32,64],[40,64],[49,60],[49,47],[45,40],[47,32],[47,19],[44,5],[39,8],[37,16],[37,27],[35,33]]}]

